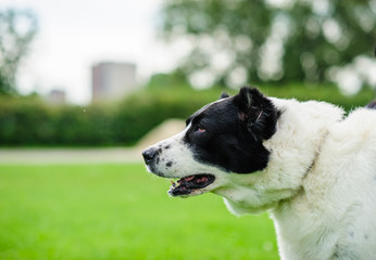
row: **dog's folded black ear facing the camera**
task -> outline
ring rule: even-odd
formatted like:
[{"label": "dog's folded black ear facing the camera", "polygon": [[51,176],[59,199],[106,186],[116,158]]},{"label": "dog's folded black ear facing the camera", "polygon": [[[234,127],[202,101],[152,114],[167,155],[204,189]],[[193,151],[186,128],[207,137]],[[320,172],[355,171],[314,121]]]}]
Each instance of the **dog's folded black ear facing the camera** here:
[{"label": "dog's folded black ear facing the camera", "polygon": [[245,123],[255,141],[270,139],[278,120],[278,112],[272,101],[258,89],[243,87],[235,96],[239,119]]}]

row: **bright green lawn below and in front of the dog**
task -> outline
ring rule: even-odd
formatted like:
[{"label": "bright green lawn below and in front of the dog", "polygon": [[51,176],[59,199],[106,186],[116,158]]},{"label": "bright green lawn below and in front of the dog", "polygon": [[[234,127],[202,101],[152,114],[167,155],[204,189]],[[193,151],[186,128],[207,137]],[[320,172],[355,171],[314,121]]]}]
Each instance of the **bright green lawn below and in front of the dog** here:
[{"label": "bright green lawn below and in front of the dog", "polygon": [[0,259],[278,259],[266,214],[168,186],[141,165],[0,166]]}]

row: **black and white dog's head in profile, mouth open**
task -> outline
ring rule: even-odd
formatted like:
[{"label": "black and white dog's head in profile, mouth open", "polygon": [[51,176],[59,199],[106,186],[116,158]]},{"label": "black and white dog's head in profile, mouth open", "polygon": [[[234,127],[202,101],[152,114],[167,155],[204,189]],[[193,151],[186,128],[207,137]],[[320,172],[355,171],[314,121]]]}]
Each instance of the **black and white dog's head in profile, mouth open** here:
[{"label": "black and white dog's head in profile, mouth open", "polygon": [[270,151],[263,142],[276,131],[278,110],[256,89],[242,88],[223,95],[187,119],[180,133],[147,148],[149,171],[178,179],[172,196],[191,196],[217,190],[229,177],[263,170]]}]

